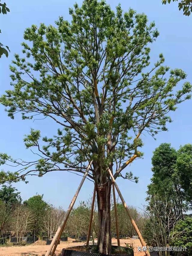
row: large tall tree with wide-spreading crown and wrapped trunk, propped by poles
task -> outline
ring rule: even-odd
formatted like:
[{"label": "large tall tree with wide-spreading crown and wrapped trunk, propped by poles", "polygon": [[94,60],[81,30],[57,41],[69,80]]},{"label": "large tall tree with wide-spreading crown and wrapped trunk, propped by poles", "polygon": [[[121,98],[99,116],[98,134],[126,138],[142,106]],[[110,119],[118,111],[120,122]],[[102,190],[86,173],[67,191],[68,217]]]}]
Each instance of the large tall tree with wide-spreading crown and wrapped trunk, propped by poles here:
[{"label": "large tall tree with wide-spreading crown and wrapped trunk, propped by poles", "polygon": [[[149,44],[159,33],[145,14],[120,5],[112,11],[105,1],[85,0],[70,9],[71,22],[59,17],[56,27],[41,24],[26,29],[24,56],[15,55],[12,90],[0,98],[8,116],[22,119],[50,118],[58,124],[53,138],[31,130],[26,148],[37,149],[33,162],[1,154],[1,163],[21,165],[13,172],[2,170],[1,182],[43,176],[50,171],[85,173],[97,187],[100,232],[99,250],[109,254],[110,190],[108,169],[114,178],[143,154],[141,134],[166,131],[167,115],[189,99],[191,85],[181,69],[163,66],[162,54],[149,67]],[[130,175],[127,175],[129,178]]]}]

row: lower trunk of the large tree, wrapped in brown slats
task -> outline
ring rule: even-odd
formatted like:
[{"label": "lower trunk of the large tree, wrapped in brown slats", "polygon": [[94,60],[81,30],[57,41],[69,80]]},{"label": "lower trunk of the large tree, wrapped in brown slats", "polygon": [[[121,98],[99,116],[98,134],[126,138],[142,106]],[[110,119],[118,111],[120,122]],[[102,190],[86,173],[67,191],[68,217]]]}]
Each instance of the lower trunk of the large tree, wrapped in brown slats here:
[{"label": "lower trunk of the large tree, wrapped in brown slats", "polygon": [[103,254],[111,252],[111,220],[110,220],[111,184],[107,182],[97,187],[97,202],[99,214],[98,248]]}]

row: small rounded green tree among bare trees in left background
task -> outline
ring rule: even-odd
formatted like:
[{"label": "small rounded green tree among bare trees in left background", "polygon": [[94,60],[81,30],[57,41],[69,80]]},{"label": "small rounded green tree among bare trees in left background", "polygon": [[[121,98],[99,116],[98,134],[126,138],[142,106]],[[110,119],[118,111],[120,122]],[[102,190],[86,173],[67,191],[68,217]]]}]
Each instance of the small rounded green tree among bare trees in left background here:
[{"label": "small rounded green tree among bare trees in left background", "polygon": [[34,235],[38,235],[41,230],[43,217],[48,208],[48,204],[43,200],[43,195],[30,197],[28,200],[24,201],[23,204],[33,213],[34,223],[32,224],[32,232]]}]

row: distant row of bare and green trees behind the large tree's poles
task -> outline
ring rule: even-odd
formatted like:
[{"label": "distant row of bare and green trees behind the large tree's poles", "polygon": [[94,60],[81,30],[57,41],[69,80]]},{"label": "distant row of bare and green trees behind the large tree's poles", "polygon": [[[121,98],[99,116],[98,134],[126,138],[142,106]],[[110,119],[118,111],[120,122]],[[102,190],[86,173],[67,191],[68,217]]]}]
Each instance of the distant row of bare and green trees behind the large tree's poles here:
[{"label": "distant row of bare and green trees behind the large tree's poles", "polygon": [[[74,236],[79,240],[81,236],[87,236],[89,218],[91,212],[92,197],[86,202],[79,202],[79,206],[72,210],[64,229],[63,236]],[[136,232],[129,220],[125,208],[117,203],[120,235],[132,237]],[[143,230],[146,216],[141,214],[136,207],[130,206],[130,211],[140,230]],[[35,195],[22,202],[20,193],[12,186],[2,186],[0,190],[0,232],[4,237],[8,235],[16,237],[21,243],[26,236],[47,236],[52,239],[64,216],[64,209],[55,207],[43,200],[43,195]],[[91,237],[94,240],[98,236],[98,211],[95,204]],[[116,236],[115,214],[113,200],[111,204],[111,232]]]}]

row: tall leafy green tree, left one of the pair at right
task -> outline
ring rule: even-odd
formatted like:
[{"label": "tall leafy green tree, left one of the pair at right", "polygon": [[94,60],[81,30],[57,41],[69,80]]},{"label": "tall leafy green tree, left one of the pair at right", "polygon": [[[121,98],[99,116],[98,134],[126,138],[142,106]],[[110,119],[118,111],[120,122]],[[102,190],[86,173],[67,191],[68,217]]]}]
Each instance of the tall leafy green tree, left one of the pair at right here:
[{"label": "tall leafy green tree, left one of the pair at right", "polygon": [[183,211],[187,210],[184,192],[181,187],[181,179],[176,170],[177,151],[168,143],[162,143],[155,149],[152,157],[153,176],[148,185],[147,194],[150,200],[154,194],[166,196],[173,202],[177,216],[183,217]]}]

